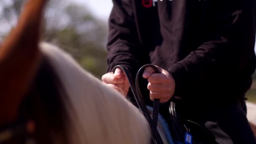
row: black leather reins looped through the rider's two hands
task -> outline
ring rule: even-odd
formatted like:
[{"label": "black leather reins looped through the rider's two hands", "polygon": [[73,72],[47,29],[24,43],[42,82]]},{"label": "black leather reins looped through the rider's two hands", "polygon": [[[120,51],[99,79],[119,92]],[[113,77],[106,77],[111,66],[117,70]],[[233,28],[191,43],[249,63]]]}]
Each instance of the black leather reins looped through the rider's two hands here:
[{"label": "black leather reins looped through the rider's two hands", "polygon": [[[133,79],[131,77],[131,73],[129,72],[129,70],[126,67],[122,67],[120,65],[115,66],[115,68],[113,69],[113,72],[115,72],[115,69],[120,68],[121,70],[123,70],[123,72],[125,73],[125,76],[128,79],[128,82],[130,84],[131,87],[131,91],[133,93],[134,99],[136,100],[136,103],[139,107],[139,109],[141,109],[142,113],[144,114],[144,116],[146,117],[149,126],[151,128],[153,137],[155,138],[155,141],[157,142],[157,144],[163,144],[163,140],[157,130],[157,122],[158,122],[158,113],[159,113],[159,106],[160,106],[160,99],[154,99],[154,103],[153,103],[153,115],[152,118],[149,114],[149,110],[147,109],[146,104],[144,103],[144,99],[142,97],[140,88],[139,88],[139,75],[141,73],[141,71],[145,68],[145,67],[152,67],[155,69],[155,71],[157,73],[160,73],[158,68],[155,67],[152,64],[146,64],[143,67],[141,67],[139,69],[139,71],[137,72],[136,75],[136,85],[134,85],[133,83]],[[154,140],[152,140],[152,143],[154,143]]]}]

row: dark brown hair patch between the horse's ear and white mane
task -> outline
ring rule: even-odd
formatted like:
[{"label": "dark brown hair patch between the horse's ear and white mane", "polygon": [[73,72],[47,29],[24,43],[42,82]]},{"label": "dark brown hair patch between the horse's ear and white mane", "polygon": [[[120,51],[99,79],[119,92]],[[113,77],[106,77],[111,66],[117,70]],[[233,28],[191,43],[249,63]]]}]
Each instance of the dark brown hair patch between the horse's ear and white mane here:
[{"label": "dark brown hair patch between the horse's ear and white mane", "polygon": [[[39,144],[67,144],[67,108],[69,99],[51,63],[42,58],[32,85],[19,108],[19,120],[33,120],[34,139]],[[69,109],[72,109],[71,107]],[[64,119],[65,117],[65,119]]]}]

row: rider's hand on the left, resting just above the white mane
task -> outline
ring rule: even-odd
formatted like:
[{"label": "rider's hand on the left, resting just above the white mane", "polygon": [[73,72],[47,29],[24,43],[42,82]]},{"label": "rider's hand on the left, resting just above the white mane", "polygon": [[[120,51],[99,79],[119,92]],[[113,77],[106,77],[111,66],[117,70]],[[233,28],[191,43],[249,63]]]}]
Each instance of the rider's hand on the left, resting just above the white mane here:
[{"label": "rider's hand on the left, resting just above the white mane", "polygon": [[115,72],[108,72],[101,77],[103,83],[107,84],[109,87],[114,88],[118,92],[122,93],[124,96],[127,95],[129,91],[129,82],[124,72],[117,68]]}]

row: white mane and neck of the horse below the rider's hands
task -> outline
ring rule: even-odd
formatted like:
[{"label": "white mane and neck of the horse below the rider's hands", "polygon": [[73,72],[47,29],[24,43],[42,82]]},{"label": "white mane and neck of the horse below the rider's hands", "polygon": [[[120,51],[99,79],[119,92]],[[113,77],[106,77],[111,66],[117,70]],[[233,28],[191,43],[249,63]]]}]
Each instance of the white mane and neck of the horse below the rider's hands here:
[{"label": "white mane and neck of the horse below the rider's hands", "polygon": [[[151,132],[142,113],[124,96],[87,72],[65,51],[49,43],[40,50],[59,76],[69,99],[70,144],[149,144]],[[67,101],[67,102],[65,102]]]}]

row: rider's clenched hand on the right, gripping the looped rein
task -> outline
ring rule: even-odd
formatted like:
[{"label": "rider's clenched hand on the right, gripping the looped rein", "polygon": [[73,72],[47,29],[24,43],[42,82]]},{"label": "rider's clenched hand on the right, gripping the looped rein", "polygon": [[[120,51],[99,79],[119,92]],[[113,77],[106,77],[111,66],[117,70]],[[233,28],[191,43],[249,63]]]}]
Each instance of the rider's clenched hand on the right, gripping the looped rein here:
[{"label": "rider's clenched hand on the right, gripping the looped rein", "polygon": [[148,79],[147,88],[150,91],[150,99],[152,101],[160,99],[160,102],[167,102],[173,97],[175,81],[172,75],[165,69],[157,68],[161,73],[154,73],[155,69],[146,67],[142,76]]}]

